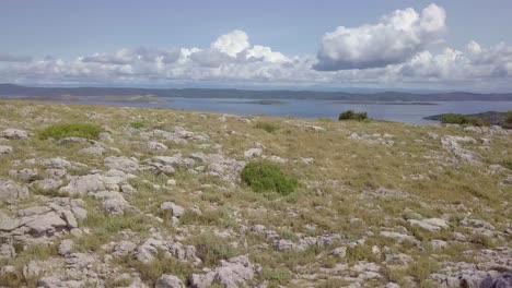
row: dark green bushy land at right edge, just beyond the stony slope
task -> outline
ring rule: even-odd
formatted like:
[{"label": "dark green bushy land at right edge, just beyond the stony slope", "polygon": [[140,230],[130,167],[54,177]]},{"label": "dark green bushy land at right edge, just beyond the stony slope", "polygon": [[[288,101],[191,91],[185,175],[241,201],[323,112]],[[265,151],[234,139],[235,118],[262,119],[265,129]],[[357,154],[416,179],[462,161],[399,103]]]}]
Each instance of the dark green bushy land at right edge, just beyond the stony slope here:
[{"label": "dark green bushy land at right edge, just beyond the stony slope", "polygon": [[472,124],[472,125],[500,125],[512,129],[512,111],[496,112],[488,111],[474,115],[441,113],[424,117],[428,120],[441,121],[441,123]]}]

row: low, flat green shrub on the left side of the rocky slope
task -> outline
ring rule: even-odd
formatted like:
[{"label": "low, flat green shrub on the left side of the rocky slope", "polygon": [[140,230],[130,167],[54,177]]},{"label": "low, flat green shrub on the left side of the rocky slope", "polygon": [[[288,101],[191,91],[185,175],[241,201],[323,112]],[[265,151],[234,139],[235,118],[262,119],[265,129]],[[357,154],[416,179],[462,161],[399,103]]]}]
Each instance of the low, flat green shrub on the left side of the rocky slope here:
[{"label": "low, flat green shrub on the left side of the rocky slope", "polygon": [[100,133],[104,130],[92,123],[68,123],[68,124],[56,124],[48,127],[39,133],[40,140],[53,137],[55,140],[65,137],[84,137],[91,140],[97,140]]}]

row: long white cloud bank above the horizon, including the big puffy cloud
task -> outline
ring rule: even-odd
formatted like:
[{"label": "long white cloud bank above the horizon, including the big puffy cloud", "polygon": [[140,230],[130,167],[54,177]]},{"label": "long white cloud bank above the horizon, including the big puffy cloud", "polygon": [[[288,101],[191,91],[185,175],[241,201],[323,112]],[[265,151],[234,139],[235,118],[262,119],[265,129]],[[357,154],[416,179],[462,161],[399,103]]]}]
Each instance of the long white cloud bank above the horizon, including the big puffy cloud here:
[{"label": "long white cloud bank above the horizon, including the big puffy cloud", "polygon": [[290,56],[253,45],[232,31],[208,47],[124,48],[115,52],[31,59],[0,53],[0,82],[28,84],[170,85],[200,82],[244,86],[371,86],[512,89],[512,47],[444,47],[443,8],[397,10],[374,24],[325,34],[316,55]]}]

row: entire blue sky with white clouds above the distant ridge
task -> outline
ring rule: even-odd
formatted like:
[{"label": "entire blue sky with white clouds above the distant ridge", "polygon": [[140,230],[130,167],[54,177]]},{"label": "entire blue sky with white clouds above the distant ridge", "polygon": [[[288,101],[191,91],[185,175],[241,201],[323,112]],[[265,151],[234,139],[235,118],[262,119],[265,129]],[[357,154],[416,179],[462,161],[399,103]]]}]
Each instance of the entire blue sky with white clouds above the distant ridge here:
[{"label": "entire blue sky with white clouds above the distant ridge", "polygon": [[512,1],[0,1],[0,82],[512,92]]}]

